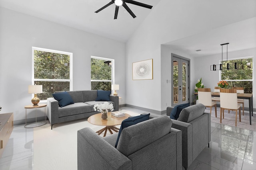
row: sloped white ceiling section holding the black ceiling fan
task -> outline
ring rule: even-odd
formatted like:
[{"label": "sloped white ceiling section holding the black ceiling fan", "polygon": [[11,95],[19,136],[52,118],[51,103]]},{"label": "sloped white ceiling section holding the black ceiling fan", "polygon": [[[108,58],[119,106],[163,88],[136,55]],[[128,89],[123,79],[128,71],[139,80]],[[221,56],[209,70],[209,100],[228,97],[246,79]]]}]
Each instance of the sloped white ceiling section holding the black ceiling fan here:
[{"label": "sloped white ceiling section holding the black ceiling fan", "polygon": [[[138,0],[138,2],[153,6],[153,8],[159,1]],[[136,18],[132,18],[124,7],[120,6],[118,17],[114,20],[115,4],[95,13],[109,2],[111,0],[0,0],[0,6],[126,42],[151,10],[127,3]]]}]

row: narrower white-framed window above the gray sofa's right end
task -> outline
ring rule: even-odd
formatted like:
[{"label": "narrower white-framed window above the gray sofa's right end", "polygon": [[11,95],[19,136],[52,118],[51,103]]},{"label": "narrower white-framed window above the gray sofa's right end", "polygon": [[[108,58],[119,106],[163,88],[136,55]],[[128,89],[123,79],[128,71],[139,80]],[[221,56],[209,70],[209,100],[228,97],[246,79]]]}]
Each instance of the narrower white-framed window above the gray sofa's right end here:
[{"label": "narrower white-framed window above the gray sofa's right end", "polygon": [[91,57],[91,90],[111,91],[111,84],[114,83],[113,67],[112,59]]}]

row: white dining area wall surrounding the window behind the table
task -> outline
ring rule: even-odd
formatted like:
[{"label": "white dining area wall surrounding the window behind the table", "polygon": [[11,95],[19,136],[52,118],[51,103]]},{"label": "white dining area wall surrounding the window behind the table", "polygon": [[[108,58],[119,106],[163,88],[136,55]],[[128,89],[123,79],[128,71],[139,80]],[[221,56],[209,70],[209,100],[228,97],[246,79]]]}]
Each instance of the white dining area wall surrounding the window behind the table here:
[{"label": "white dining area wall surrounding the window behind the table", "polygon": [[[241,57],[253,57],[253,68],[256,64],[256,48],[253,49],[246,49],[246,50],[240,50],[240,51],[232,51],[228,52],[228,59],[235,59],[235,58],[241,58]],[[202,82],[204,83],[204,86],[207,88],[214,89],[215,86],[218,86],[217,83],[221,80],[220,79],[220,71],[210,71],[210,65],[212,64],[219,64],[219,61],[221,60],[221,53],[216,55],[210,55],[210,56],[204,56],[204,57],[196,57],[195,63],[200,63],[200,67],[195,69],[195,75],[197,75],[197,78],[202,77]],[[256,69],[254,68],[253,72],[253,79],[255,79],[256,76]],[[194,86],[196,84],[196,81],[194,82]],[[256,83],[255,81],[252,83],[253,85],[253,93],[255,93],[256,90]],[[255,95],[254,95],[255,96]],[[253,100],[253,107],[256,108],[256,100]],[[244,102],[244,107],[249,107],[249,104],[247,101]]]}]

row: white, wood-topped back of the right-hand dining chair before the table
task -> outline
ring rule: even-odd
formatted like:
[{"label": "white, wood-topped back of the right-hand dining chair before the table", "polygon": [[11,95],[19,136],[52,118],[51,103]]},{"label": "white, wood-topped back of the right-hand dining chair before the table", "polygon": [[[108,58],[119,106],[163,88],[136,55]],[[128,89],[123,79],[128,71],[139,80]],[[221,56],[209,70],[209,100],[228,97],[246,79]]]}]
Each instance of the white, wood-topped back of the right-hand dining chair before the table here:
[{"label": "white, wood-topped back of the right-hand dining chair before the table", "polygon": [[236,89],[220,89],[220,107],[237,109]]}]

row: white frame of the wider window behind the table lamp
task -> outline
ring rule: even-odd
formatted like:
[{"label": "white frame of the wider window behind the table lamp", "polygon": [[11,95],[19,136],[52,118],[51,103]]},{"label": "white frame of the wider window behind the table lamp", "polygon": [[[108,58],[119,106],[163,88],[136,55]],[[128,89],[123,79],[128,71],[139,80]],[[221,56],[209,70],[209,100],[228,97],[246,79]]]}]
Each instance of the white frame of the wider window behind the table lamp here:
[{"label": "white frame of the wider window behind the table lamp", "polygon": [[[44,51],[48,53],[58,53],[69,55],[69,79],[38,79],[34,78],[34,51]],[[42,81],[42,82],[69,82],[69,90],[73,90],[73,53],[65,52],[65,51],[58,51],[52,49],[44,49],[40,47],[32,47],[32,84],[34,85],[35,81]],[[32,94],[33,98],[34,94]],[[40,100],[40,102],[46,102],[47,100]]]}]

